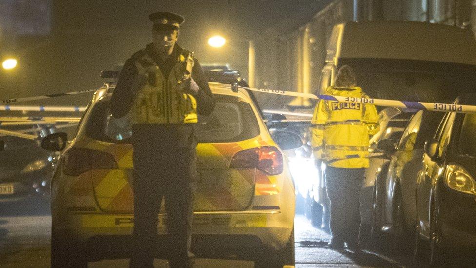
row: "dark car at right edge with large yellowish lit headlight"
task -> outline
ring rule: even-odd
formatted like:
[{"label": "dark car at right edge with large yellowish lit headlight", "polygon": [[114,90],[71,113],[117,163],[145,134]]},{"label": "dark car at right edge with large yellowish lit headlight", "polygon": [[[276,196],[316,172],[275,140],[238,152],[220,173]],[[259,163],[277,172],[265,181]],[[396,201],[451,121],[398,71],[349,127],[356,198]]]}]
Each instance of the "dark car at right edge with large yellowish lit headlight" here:
[{"label": "dark car at right edge with large yellowish lit headlight", "polygon": [[[476,105],[476,94],[456,104]],[[440,265],[476,248],[476,114],[447,113],[424,145],[416,181],[417,258]],[[422,247],[429,243],[429,251]],[[426,253],[426,254],[425,254]],[[474,266],[474,260],[472,265]]]}]

